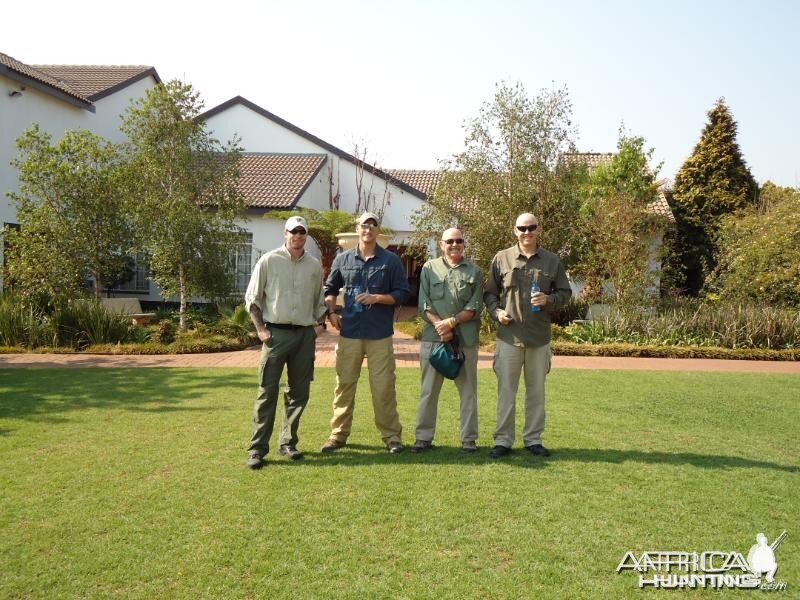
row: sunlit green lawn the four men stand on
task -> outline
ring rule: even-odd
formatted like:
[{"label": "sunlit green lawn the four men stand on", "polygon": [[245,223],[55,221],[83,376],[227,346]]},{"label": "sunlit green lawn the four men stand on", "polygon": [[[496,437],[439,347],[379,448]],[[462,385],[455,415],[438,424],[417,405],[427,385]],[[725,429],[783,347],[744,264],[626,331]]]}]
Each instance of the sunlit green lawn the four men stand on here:
[{"label": "sunlit green lawn the four men stand on", "polygon": [[[411,442],[419,373],[398,376]],[[643,598],[665,592],[615,572],[628,550],[746,555],[784,529],[776,579],[796,597],[800,377],[559,369],[554,455],[495,462],[491,371],[479,454],[458,450],[446,383],[439,447],[389,455],[362,379],[350,445],[323,456],[319,369],[306,460],[251,472],[254,384],[250,369],[0,370],[0,597]]]}]

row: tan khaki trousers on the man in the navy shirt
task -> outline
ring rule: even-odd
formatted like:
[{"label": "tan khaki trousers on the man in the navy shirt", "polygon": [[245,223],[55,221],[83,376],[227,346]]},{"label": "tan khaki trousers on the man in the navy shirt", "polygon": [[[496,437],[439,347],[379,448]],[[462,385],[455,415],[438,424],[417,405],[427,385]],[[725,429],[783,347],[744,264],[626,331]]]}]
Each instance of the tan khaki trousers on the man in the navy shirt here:
[{"label": "tan khaki trousers on the man in the navy shirt", "polygon": [[385,444],[400,442],[403,427],[397,412],[394,347],[391,336],[380,340],[340,337],[336,345],[336,391],[333,395],[331,439],[347,440],[353,426],[356,387],[367,357],[375,426]]}]

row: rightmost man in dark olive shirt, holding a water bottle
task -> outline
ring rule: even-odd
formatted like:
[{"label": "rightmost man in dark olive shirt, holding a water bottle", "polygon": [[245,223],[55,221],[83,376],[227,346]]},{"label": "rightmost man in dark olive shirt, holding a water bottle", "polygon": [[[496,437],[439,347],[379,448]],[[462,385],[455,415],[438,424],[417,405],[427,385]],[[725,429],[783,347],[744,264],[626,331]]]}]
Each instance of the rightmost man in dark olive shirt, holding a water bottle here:
[{"label": "rightmost man in dark olive shirt, holding a water bottle", "polygon": [[[525,374],[525,424],[522,443],[535,456],[549,456],[542,445],[544,382],[550,372],[550,313],[572,295],[558,255],[539,247],[542,228],[538,219],[517,217],[517,243],[492,259],[483,299],[493,319],[500,323],[494,354],[497,376],[497,426],[495,446],[489,453],[500,458],[514,445],[515,400],[520,373]],[[532,285],[538,284],[538,291]]]}]

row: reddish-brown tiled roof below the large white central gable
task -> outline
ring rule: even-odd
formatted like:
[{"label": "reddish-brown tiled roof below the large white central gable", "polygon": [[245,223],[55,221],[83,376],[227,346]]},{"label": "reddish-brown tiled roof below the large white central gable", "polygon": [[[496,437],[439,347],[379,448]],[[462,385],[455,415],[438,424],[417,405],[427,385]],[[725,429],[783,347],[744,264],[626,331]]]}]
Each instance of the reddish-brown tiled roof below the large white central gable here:
[{"label": "reddish-brown tiled roof below the large white central gable", "polygon": [[325,164],[325,154],[245,152],[239,191],[251,208],[291,208]]}]

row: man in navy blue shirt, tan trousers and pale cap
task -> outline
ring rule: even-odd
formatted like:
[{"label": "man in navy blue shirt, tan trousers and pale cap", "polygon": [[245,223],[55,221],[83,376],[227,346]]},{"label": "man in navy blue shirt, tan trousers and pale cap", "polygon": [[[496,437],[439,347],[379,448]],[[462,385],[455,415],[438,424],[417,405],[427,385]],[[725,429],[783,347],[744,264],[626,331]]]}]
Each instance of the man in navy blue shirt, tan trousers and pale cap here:
[{"label": "man in navy blue shirt, tan trousers and pale cap", "polygon": [[[328,315],[341,335],[336,345],[331,435],[323,452],[334,452],[347,443],[365,356],[375,425],[389,452],[403,451],[392,334],[395,307],[408,299],[409,287],[400,259],[378,245],[379,231],[377,215],[362,214],[357,225],[358,246],[336,256],[325,282]],[[341,316],[334,310],[340,290],[345,295]]]}]

